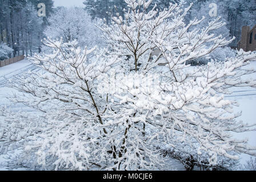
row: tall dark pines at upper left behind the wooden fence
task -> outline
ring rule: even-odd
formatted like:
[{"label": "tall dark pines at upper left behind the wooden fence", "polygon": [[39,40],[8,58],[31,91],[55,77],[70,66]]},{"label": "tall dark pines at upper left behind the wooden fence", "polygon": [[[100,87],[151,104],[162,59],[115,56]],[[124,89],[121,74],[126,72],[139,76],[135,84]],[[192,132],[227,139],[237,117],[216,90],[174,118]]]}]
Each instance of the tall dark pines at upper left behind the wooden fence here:
[{"label": "tall dark pines at upper left behind the wooden fence", "polygon": [[[46,17],[38,17],[38,3],[45,3]],[[41,51],[42,32],[52,12],[53,0],[0,0],[0,43],[13,49],[10,56]]]}]

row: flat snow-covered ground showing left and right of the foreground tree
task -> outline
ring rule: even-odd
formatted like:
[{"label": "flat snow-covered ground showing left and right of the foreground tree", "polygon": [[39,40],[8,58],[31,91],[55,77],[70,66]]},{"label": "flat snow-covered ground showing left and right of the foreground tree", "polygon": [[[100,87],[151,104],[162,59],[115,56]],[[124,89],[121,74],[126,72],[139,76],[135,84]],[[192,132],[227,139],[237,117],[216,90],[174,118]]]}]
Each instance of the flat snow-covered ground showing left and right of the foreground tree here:
[{"label": "flat snow-covered ground showing left and right of the foreground tree", "polygon": [[[256,63],[251,64],[254,68],[256,68]],[[33,71],[38,69],[34,65],[30,63],[29,60],[22,60],[18,63],[14,63],[11,65],[7,65],[6,67],[0,68],[0,105],[8,104],[8,94],[11,92],[15,92],[15,90],[6,87],[6,78],[11,78],[13,76],[17,76],[25,71]],[[253,75],[253,76],[256,76]],[[240,119],[246,123],[256,123],[255,119],[255,111],[256,111],[256,89],[251,88],[235,88],[234,93],[231,96],[226,96],[231,100],[237,100],[239,102],[239,107],[235,108],[235,111],[242,110],[242,116]],[[15,105],[14,107],[20,107]],[[0,118],[1,119],[1,118]],[[246,134],[235,134],[235,137],[238,138],[248,138],[249,143],[253,146],[256,146],[256,133],[255,132],[247,132]],[[241,163],[244,164],[246,160],[249,160],[250,156],[243,154],[241,155]],[[3,162],[3,156],[0,155],[0,163]],[[178,170],[183,170],[182,164],[174,160],[172,162],[174,167]],[[0,170],[4,170],[5,168],[0,168]]]}]

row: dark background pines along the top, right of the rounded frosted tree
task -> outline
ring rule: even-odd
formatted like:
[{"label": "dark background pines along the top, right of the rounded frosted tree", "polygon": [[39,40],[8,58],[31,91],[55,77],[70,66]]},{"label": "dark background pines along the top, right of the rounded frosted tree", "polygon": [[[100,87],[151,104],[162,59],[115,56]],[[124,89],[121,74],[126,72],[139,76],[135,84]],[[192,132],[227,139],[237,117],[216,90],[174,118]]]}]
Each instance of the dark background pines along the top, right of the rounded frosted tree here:
[{"label": "dark background pines along the top, right of the rounded frosted tree", "polygon": [[[169,6],[170,2],[179,3],[181,0],[153,0],[159,9]],[[186,22],[195,16],[209,16],[209,4],[216,3],[218,6],[218,16],[222,16],[227,23],[226,30],[222,30],[225,35],[235,36],[237,39],[230,46],[237,46],[238,40],[241,38],[242,26],[254,26],[256,24],[256,0],[185,0],[185,7],[193,2],[194,6],[186,16]],[[115,12],[123,16],[125,8],[124,0],[85,0],[83,2],[85,9],[92,18],[106,19],[110,23],[110,14]],[[109,13],[107,13],[109,12]],[[209,18],[209,17],[208,17]],[[206,22],[207,23],[207,22]]]}]

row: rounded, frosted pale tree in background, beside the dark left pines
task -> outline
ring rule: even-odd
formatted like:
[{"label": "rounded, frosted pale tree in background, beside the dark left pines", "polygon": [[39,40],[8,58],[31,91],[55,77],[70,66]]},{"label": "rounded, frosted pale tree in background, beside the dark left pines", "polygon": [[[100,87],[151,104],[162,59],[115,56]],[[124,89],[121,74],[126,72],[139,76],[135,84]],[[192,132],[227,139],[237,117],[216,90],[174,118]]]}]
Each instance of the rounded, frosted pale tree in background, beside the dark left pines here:
[{"label": "rounded, frosted pale tree in background, beside the dark left pines", "polygon": [[[49,26],[44,31],[46,37],[63,38],[64,42],[78,40],[79,46],[101,46],[102,39],[98,28],[89,14],[79,7],[59,7],[48,19]],[[99,22],[98,22],[99,23]]]}]

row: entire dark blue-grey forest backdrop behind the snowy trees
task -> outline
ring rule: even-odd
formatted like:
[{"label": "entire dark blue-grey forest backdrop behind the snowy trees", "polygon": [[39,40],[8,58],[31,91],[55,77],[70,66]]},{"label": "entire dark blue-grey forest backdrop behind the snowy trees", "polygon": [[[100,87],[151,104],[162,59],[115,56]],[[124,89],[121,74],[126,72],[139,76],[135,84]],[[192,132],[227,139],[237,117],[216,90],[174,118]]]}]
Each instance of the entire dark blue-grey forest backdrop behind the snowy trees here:
[{"label": "entire dark blue-grey forest backdrop behind the snowy trees", "polygon": [[[236,39],[230,44],[232,47],[237,47],[238,40],[241,37],[242,26],[254,26],[255,22],[253,20],[256,19],[256,0],[154,1],[161,9],[166,8],[170,2],[182,2],[185,7],[193,2],[194,5],[185,17],[187,22],[193,17],[206,16],[207,20],[213,19],[214,17],[210,17],[208,13],[210,9],[209,4],[212,2],[216,3],[218,5],[217,16],[222,16],[222,20],[227,23],[225,27],[219,28],[219,32],[216,33],[222,34],[225,37],[235,36]],[[38,3],[45,3],[46,17],[38,17]],[[85,12],[82,13],[82,10],[79,10],[78,19],[81,20],[81,23],[83,22],[84,29],[91,27],[91,19],[105,19],[106,23],[109,23],[111,13],[117,11],[123,16],[123,9],[126,6],[123,0],[85,0],[83,4],[85,5],[83,7]],[[61,15],[55,16],[55,20],[50,18],[53,17],[51,15],[59,14],[61,11],[63,14],[63,9],[65,9],[64,7],[54,7],[53,5],[53,0],[0,0],[0,42],[1,46],[5,46],[6,50],[6,52],[2,53],[2,56],[5,54],[9,57],[21,54],[31,56],[33,52],[41,52],[41,40],[49,36],[49,31],[45,31],[47,28],[50,29],[48,26],[53,25],[54,28],[57,28],[56,22],[63,26],[66,25],[63,24],[65,19],[61,19]],[[97,32],[97,30],[95,31]],[[88,37],[88,35],[86,36]],[[79,38],[73,37],[71,39]]]}]

